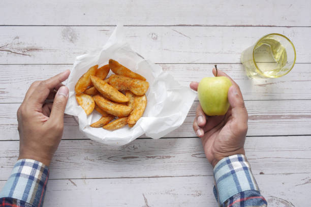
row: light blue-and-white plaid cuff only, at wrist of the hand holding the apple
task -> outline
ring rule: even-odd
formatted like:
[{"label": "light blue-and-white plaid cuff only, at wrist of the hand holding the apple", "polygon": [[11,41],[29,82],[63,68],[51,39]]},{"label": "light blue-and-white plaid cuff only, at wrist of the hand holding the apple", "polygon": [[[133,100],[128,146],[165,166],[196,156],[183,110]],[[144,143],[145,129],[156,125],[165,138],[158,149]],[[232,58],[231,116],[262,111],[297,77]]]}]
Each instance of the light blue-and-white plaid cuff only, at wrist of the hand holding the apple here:
[{"label": "light blue-and-white plaid cuff only, at wrist of the hand holding the apple", "polygon": [[214,167],[214,194],[220,204],[233,195],[259,188],[244,155],[232,155],[220,160]]}]

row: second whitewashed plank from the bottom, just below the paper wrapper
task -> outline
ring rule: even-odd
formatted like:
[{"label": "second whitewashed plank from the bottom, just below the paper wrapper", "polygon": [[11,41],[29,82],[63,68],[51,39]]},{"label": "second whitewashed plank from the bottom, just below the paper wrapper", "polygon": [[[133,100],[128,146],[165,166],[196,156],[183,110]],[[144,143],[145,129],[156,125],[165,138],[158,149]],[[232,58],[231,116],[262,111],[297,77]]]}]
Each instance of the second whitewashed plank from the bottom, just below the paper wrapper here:
[{"label": "second whitewashed plank from the bottom, just below the paper wrapper", "polygon": [[[1,142],[0,180],[10,175],[18,144]],[[310,144],[310,136],[247,137],[245,151],[256,175],[301,174],[311,172]],[[211,175],[198,138],[139,139],[122,147],[63,140],[50,165],[50,179]]]}]

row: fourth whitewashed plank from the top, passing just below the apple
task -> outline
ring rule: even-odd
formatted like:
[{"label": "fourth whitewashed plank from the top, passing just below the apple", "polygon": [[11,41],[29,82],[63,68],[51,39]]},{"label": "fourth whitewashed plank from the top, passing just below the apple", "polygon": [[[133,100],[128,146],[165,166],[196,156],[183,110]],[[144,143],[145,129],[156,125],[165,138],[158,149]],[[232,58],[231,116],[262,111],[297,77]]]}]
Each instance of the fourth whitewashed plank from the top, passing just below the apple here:
[{"label": "fourth whitewashed plank from the top, passing just below the apple", "polygon": [[[165,137],[195,137],[192,124],[199,102],[195,101],[183,124]],[[20,103],[0,106],[0,140],[18,140],[16,111]],[[311,134],[311,100],[247,100],[248,136]],[[85,139],[72,116],[65,116],[63,139]],[[145,137],[145,136],[142,136]]]}]

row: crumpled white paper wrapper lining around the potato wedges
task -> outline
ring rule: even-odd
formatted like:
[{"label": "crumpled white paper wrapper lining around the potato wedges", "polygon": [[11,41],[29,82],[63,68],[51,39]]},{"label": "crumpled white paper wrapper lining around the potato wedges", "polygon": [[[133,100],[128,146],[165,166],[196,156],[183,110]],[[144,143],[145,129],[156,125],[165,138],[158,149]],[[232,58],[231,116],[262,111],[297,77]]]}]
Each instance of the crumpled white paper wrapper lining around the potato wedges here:
[{"label": "crumpled white paper wrapper lining around the potato wedges", "polygon": [[[89,139],[114,146],[128,144],[142,134],[159,139],[173,131],[183,123],[196,96],[189,87],[181,86],[170,74],[163,72],[160,66],[133,51],[128,43],[123,42],[124,33],[123,27],[117,26],[103,48],[76,57],[67,81],[69,99],[65,113],[78,117],[80,130]],[[94,110],[86,116],[76,101],[74,89],[78,79],[92,65],[100,67],[108,64],[110,58],[144,76],[149,82],[146,110],[132,128],[127,125],[109,131],[90,127],[101,115]]]}]

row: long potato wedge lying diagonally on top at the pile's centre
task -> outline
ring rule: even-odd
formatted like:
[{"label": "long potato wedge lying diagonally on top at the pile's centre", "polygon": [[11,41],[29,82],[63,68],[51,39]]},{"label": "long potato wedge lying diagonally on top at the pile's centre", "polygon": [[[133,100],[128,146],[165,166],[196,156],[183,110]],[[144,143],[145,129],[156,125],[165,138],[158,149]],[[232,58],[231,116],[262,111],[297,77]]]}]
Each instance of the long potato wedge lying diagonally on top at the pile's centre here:
[{"label": "long potato wedge lying diagonally on top at the pile's centre", "polygon": [[115,102],[128,102],[129,98],[123,93],[119,92],[116,88],[112,87],[105,81],[96,76],[90,77],[94,87],[105,97]]}]

